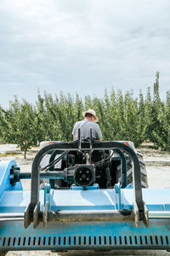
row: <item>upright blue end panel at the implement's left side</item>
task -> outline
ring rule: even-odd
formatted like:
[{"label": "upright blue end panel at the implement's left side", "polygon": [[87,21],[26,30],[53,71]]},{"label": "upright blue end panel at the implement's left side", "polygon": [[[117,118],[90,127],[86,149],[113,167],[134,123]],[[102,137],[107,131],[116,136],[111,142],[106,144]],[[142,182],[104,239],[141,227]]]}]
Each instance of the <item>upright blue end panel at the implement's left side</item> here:
[{"label": "upright blue end panel at the implement's left side", "polygon": [[0,161],[0,198],[4,191],[22,189],[21,182],[17,183],[14,187],[10,184],[9,175],[12,166],[17,166],[14,160]]}]

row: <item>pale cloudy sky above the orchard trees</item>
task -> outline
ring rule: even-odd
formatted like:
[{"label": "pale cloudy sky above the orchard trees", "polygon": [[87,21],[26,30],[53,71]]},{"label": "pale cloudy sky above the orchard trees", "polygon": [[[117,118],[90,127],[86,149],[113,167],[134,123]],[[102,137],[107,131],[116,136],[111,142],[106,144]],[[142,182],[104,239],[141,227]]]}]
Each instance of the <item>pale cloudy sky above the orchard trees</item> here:
[{"label": "pale cloudy sky above the orchard trees", "polygon": [[0,105],[37,90],[170,90],[169,0],[1,0]]}]

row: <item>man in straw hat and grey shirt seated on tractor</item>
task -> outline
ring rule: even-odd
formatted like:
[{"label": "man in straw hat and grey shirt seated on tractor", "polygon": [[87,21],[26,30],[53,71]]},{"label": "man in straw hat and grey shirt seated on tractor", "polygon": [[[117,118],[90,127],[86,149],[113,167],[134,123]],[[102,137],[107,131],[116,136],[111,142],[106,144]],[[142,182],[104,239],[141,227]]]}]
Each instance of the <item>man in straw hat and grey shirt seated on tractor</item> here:
[{"label": "man in straw hat and grey shirt seated on tractor", "polygon": [[90,137],[90,129],[92,129],[92,138],[101,142],[102,134],[99,125],[96,124],[99,119],[96,116],[94,109],[88,109],[88,111],[82,112],[82,116],[84,117],[84,119],[82,121],[78,121],[73,127],[73,140],[75,141],[78,139],[78,129],[80,129],[81,137],[84,138]]}]

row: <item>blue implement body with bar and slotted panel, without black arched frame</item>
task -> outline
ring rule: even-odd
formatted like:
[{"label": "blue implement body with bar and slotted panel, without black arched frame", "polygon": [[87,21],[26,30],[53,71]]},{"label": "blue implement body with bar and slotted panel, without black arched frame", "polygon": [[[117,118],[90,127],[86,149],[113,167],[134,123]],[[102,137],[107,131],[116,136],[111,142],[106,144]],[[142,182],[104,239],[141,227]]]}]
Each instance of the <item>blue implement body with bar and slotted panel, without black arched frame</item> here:
[{"label": "blue implement body with bar and slotted panel, without black arched frame", "polygon": [[[16,166],[14,161],[0,162],[0,251],[170,248],[170,189],[143,189],[149,228],[147,222],[139,221],[138,204],[133,207],[133,189],[122,189],[120,184],[116,189],[97,189],[94,184],[73,190],[55,190],[47,185],[39,191],[31,215],[25,212],[31,191],[16,190],[20,182],[10,184],[12,166]],[[24,228],[26,214],[36,229],[33,225]],[[30,218],[25,218],[28,224]]]}]

